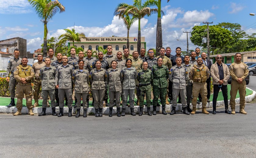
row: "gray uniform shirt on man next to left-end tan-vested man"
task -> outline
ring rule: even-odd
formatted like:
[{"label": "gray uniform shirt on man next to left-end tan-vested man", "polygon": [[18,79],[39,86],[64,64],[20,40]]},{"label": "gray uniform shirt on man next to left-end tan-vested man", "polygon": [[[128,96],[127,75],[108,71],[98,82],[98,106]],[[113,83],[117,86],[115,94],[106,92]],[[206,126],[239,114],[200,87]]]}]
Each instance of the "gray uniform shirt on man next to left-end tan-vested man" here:
[{"label": "gray uniform shirt on man next to left-end tan-vested man", "polygon": [[39,78],[42,80],[42,90],[55,89],[56,68],[50,65],[42,67],[39,72]]}]

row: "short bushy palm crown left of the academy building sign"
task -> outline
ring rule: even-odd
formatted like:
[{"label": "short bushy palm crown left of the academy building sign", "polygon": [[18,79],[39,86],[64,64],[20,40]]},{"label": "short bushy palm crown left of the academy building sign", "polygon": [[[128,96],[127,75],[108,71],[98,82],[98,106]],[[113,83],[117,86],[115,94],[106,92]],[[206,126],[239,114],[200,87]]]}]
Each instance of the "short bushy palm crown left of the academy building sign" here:
[{"label": "short bushy palm crown left of the academy building sign", "polygon": [[60,42],[67,42],[72,41],[73,42],[73,46],[75,41],[77,42],[81,42],[81,39],[86,39],[86,36],[84,35],[84,33],[77,33],[75,31],[75,29],[64,29],[66,31],[66,33],[62,34],[59,36]]}]

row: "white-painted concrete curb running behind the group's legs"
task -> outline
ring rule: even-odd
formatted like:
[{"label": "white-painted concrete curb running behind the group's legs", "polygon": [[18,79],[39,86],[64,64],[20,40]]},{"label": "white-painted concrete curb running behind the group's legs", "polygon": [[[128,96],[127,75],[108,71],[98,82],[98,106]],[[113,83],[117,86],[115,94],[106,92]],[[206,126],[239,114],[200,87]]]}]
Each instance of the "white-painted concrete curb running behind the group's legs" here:
[{"label": "white-painted concrete curb running behind the group's legs", "polygon": [[[248,88],[248,89],[250,89],[250,88]],[[250,90],[253,91],[252,89],[250,89]],[[253,93],[251,95],[248,95],[248,96],[245,97],[245,102],[247,102],[247,103],[251,102],[255,98],[255,96],[256,96],[256,92],[253,91]],[[240,101],[240,98],[236,98],[236,100],[235,100],[236,104],[239,104],[239,101]],[[228,104],[229,104],[229,101],[228,101]],[[220,106],[224,106],[224,101],[217,101],[216,107],[220,107]],[[207,108],[212,108],[212,102],[207,103],[206,107]],[[172,108],[172,105],[166,105],[165,106],[165,111],[166,112],[171,112],[171,108]],[[178,104],[178,106],[176,107],[176,111],[180,111],[181,108],[182,108],[181,104]],[[190,104],[190,108],[192,108],[191,104]],[[197,108],[202,108],[202,103],[197,104]],[[144,107],[143,110],[144,110],[144,112],[147,112],[147,107]],[[7,106],[0,106],[0,113],[15,113],[16,111],[17,111],[16,107],[7,108]],[[69,111],[68,107],[64,107],[63,113],[68,114],[68,111]],[[120,108],[120,111],[122,112],[122,107]],[[139,106],[134,106],[134,112],[139,113],[139,111],[140,111]],[[162,112],[162,105],[160,107],[157,107],[156,111],[157,112]],[[41,113],[42,112],[42,107],[33,108],[33,112],[34,112],[34,114]],[[73,112],[73,114],[76,113],[76,108],[73,108],[72,112]],[[116,112],[117,112],[116,107],[114,107],[112,113],[116,114]],[[130,108],[127,107],[126,108],[126,113],[130,113],[130,112],[131,112]],[[151,112],[153,112],[152,105],[151,105]],[[23,107],[22,110],[21,110],[21,113],[28,114],[27,107]],[[52,108],[51,107],[46,108],[46,113],[47,114],[52,114]],[[56,113],[59,113],[59,107],[56,107]],[[81,108],[80,114],[83,114],[83,113],[84,113],[84,110]],[[103,108],[102,114],[108,115],[108,113],[109,113],[109,108],[108,107]],[[87,114],[95,114],[94,107],[87,108]]]}]

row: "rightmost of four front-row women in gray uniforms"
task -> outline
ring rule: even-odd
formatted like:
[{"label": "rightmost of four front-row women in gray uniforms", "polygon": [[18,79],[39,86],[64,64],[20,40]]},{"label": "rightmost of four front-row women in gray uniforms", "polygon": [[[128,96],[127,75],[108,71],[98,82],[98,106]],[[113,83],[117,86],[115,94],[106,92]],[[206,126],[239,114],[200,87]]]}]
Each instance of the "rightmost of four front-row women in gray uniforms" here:
[{"label": "rightmost of four front-row women in gray uniforms", "polygon": [[126,59],[126,67],[123,67],[122,69],[122,75],[123,78],[121,81],[123,81],[122,86],[122,114],[121,116],[125,116],[125,109],[128,101],[128,95],[129,95],[129,102],[130,102],[130,109],[131,109],[131,115],[135,116],[134,112],[134,91],[136,88],[135,80],[137,79],[137,70],[135,67],[132,67],[132,60]]}]

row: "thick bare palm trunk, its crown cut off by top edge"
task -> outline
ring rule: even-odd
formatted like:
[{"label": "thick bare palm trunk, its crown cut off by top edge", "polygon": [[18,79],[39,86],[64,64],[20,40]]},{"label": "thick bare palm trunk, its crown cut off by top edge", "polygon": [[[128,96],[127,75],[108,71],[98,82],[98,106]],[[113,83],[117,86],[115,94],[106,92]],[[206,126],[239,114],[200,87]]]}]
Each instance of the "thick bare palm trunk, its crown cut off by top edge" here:
[{"label": "thick bare palm trunk, its crown cut off by top edge", "polygon": [[[167,0],[169,2],[170,0]],[[159,56],[159,50],[162,48],[162,22],[161,22],[161,0],[158,0],[158,14],[156,24],[156,56]]]}]

